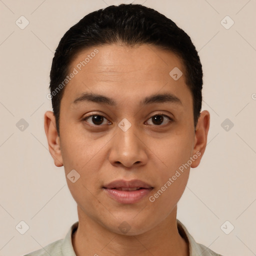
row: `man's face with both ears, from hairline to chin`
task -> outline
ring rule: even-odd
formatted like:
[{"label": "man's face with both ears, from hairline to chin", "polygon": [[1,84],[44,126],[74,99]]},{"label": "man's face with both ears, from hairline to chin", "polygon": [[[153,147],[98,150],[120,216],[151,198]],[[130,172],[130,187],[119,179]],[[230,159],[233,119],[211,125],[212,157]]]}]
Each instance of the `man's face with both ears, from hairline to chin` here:
[{"label": "man's face with both ears, from hairline to chin", "polygon": [[[183,75],[176,79],[169,74],[173,68]],[[55,164],[64,165],[78,215],[115,233],[122,232],[120,225],[131,235],[152,229],[173,214],[190,166],[199,164],[208,112],[194,131],[184,66],[156,46],[92,47],[73,59],[71,72],[60,104],[60,135],[50,124],[51,112],[45,114],[45,130]],[[134,179],[140,183],[128,183]],[[116,180],[123,183],[108,185]]]}]

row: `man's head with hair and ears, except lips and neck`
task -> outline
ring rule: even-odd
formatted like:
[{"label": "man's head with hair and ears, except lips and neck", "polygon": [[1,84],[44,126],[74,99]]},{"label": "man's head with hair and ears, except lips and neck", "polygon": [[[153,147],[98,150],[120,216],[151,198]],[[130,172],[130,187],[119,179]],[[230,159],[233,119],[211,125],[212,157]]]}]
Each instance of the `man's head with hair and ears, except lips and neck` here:
[{"label": "man's head with hair and ears, except lips and neck", "polygon": [[[129,234],[138,234],[173,212],[206,146],[201,89],[190,37],[153,9],[112,5],[64,34],[52,60],[45,132],[78,215],[114,232],[126,221]],[[140,179],[152,190],[147,199],[120,203],[105,192],[116,179]]]}]

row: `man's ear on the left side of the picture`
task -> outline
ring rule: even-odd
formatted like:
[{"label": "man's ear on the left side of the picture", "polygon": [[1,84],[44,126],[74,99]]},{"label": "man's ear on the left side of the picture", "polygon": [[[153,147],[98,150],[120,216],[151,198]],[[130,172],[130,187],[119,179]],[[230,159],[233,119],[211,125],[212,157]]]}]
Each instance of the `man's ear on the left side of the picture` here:
[{"label": "man's ear on the left side of the picture", "polygon": [[49,152],[57,167],[63,166],[60,140],[56,129],[55,116],[52,111],[46,111],[44,114],[44,131],[48,140]]}]

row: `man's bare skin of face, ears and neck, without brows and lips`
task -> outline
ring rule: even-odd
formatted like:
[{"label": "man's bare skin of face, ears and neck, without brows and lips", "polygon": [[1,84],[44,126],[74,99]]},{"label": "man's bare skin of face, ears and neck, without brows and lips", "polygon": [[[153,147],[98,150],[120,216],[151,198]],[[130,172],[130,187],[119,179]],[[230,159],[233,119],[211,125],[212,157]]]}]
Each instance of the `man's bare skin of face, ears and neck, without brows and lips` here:
[{"label": "man's bare skin of face, ears and neck, without brows and lips", "polygon": [[[177,230],[177,202],[190,167],[196,167],[203,155],[209,112],[200,113],[194,129],[192,95],[174,53],[146,44],[104,45],[80,51],[69,70],[94,48],[99,52],[65,86],[59,136],[53,113],[44,115],[55,165],[63,165],[65,175],[72,169],[80,174],[74,183],[66,178],[79,220],[72,236],[74,251],[77,256],[188,255],[188,245]],[[169,75],[174,67],[183,72],[178,80]],[[111,97],[116,106],[72,103],[83,92]],[[174,94],[181,103],[139,105],[145,96],[163,92]],[[152,117],[159,112],[172,121],[161,115],[162,122],[154,122]],[[105,118],[97,125],[88,117],[92,114]],[[126,131],[118,126],[123,118],[131,124]],[[116,179],[140,179],[154,187],[149,194],[153,195],[196,152],[200,156],[154,202],[146,196],[134,204],[122,204],[102,189]],[[130,227],[125,234],[118,228],[123,221]]]}]

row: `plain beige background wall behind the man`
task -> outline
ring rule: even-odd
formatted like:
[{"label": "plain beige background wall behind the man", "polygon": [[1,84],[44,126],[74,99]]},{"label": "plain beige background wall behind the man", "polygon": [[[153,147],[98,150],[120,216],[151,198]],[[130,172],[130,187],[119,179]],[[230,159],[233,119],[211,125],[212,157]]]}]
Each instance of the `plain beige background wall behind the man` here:
[{"label": "plain beige background wall behind the man", "polygon": [[[63,167],[54,166],[43,129],[43,113],[51,109],[50,65],[71,25],[121,2],[131,1],[0,0],[0,255],[39,249],[63,238],[77,220]],[[256,1],[134,3],[173,19],[190,35],[203,65],[203,109],[211,114],[208,145],[199,167],[191,169],[177,217],[197,242],[214,251],[255,255]],[[15,24],[21,15],[29,21],[24,29]],[[221,24],[226,15],[234,21],[229,29]],[[23,131],[16,126],[21,118],[28,123]],[[226,118],[234,124],[228,131],[221,126]],[[15,229],[21,220],[29,226],[23,235]],[[234,226],[229,234],[220,228],[226,220]]]}]

